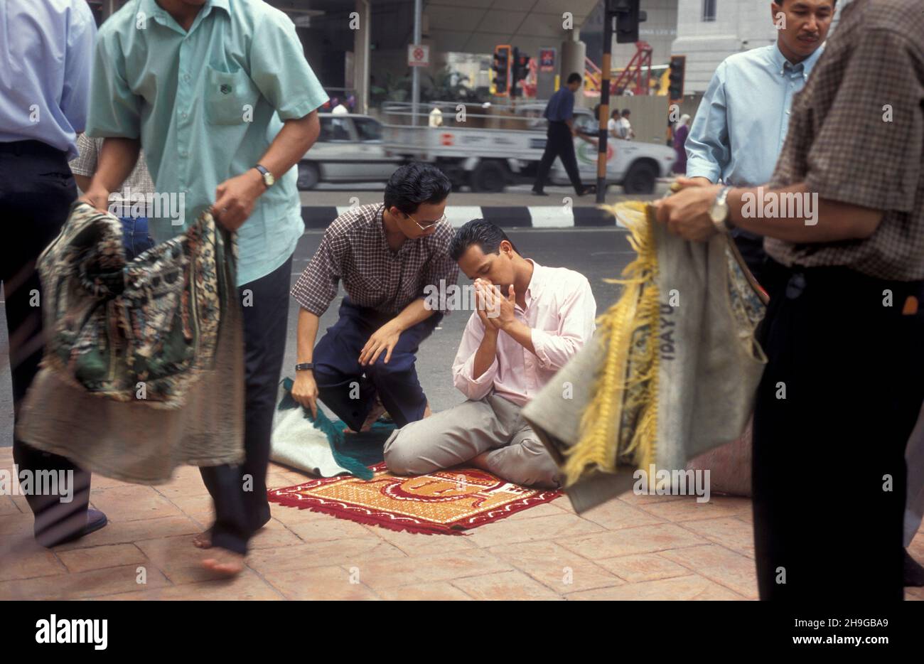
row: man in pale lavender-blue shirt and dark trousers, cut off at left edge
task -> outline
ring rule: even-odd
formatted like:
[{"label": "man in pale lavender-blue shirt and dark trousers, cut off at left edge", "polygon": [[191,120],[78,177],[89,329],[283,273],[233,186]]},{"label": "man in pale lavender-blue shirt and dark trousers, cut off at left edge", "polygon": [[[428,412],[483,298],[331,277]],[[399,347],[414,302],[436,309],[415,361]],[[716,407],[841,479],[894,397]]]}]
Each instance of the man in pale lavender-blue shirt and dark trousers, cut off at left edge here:
[{"label": "man in pale lavender-blue shirt and dark trousers, cut off at left edge", "polygon": [[[67,160],[78,154],[77,133],[87,119],[95,34],[86,0],[0,2],[0,218],[5,222],[0,281],[6,296],[14,420],[43,354],[42,283],[36,261],[60,232],[77,198]],[[55,473],[67,483],[67,489],[55,483],[54,493],[33,490],[26,496],[40,544],[62,544],[106,524],[103,512],[89,509],[90,473],[15,435],[13,461],[22,486],[27,478],[44,473]]]}]

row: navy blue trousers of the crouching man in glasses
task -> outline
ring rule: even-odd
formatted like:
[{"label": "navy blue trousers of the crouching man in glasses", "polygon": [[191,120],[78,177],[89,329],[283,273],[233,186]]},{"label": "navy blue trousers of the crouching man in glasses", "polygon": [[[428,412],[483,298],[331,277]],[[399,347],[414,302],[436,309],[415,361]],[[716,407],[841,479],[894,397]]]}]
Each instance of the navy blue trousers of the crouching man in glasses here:
[{"label": "navy blue trousers of the crouching man in glasses", "polygon": [[379,327],[394,318],[374,309],[359,307],[345,297],[340,319],[328,327],[314,349],[314,380],[324,405],[354,431],[359,431],[378,393],[398,427],[423,417],[427,398],[417,377],[417,350],[443,319],[435,313],[398,338],[392,357],[385,352],[374,364],[362,366],[359,353]]}]

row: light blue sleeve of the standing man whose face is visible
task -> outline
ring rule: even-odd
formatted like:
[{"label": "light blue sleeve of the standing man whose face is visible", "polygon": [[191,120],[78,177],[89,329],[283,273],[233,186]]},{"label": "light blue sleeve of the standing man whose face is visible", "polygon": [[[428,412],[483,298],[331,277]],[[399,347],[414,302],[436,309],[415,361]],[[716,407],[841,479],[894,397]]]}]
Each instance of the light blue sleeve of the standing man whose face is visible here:
[{"label": "light blue sleeve of the standing man whose face is visible", "polygon": [[732,158],[725,105],[725,63],[716,68],[687,136],[687,178],[718,182]]}]

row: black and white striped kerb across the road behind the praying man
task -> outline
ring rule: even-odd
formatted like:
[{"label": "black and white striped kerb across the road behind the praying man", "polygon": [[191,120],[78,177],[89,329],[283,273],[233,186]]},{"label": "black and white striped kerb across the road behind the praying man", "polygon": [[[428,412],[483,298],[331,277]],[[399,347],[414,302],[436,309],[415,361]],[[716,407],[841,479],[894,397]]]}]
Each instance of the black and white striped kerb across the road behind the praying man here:
[{"label": "black and white striped kerb across the road behind the praying man", "polygon": [[[303,205],[307,230],[322,229],[349,210],[348,205]],[[593,205],[449,205],[446,218],[453,227],[470,219],[488,219],[505,228],[614,227],[615,217]]]}]

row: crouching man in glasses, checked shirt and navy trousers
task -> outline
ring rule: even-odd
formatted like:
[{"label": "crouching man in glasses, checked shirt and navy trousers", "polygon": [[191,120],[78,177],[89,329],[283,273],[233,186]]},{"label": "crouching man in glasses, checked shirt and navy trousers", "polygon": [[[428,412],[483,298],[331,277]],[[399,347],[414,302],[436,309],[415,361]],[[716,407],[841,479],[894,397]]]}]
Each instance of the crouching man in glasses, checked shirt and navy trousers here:
[{"label": "crouching man in glasses, checked shirt and navy trousers", "polygon": [[[401,166],[384,203],[360,205],[334,219],[298,277],[298,364],[292,396],[317,415],[321,400],[353,431],[388,409],[398,427],[424,416],[427,399],[414,368],[420,342],[443,313],[424,288],[456,283],[448,254],[453,228],[444,210],[451,185],[427,164]],[[340,319],[318,342],[318,321],[343,279]]]}]

